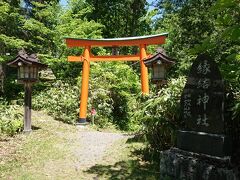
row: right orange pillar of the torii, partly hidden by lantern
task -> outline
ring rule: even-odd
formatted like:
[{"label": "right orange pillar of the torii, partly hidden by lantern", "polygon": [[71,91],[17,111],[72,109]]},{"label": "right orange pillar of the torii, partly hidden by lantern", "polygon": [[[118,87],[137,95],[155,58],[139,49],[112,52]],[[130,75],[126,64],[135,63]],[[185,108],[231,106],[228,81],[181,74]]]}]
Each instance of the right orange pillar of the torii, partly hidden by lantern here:
[{"label": "right orange pillar of the torii, partly hidden by lantern", "polygon": [[148,69],[144,64],[143,60],[147,57],[146,54],[146,45],[140,45],[140,66],[141,66],[141,84],[142,84],[142,93],[149,94],[149,85],[148,85]]}]

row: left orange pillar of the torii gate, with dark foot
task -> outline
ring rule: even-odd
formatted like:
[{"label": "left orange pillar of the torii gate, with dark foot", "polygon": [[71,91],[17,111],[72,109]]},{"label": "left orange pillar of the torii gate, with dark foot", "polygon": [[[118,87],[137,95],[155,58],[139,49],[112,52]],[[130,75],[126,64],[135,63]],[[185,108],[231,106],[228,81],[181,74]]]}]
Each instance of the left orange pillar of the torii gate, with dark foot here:
[{"label": "left orange pillar of the torii gate, with dark foot", "polygon": [[88,101],[88,84],[90,72],[90,46],[84,49],[84,62],[82,70],[82,87],[81,87],[81,101],[80,101],[80,114],[78,123],[86,123],[87,118],[87,101]]}]

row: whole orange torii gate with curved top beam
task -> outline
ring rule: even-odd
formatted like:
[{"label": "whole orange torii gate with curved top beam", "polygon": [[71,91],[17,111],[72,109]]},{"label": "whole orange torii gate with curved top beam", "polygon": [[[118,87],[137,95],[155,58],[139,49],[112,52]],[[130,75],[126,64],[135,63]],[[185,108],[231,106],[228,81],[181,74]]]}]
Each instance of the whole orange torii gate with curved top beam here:
[{"label": "whole orange torii gate with curved top beam", "polygon": [[[83,56],[68,56],[69,62],[83,62],[82,70],[82,87],[81,87],[81,101],[79,123],[85,123],[87,117],[87,100],[88,100],[88,84],[91,61],[140,61],[141,66],[141,85],[142,93],[149,94],[148,85],[148,69],[143,60],[147,57],[146,46],[164,44],[167,33],[127,37],[127,38],[113,38],[113,39],[79,39],[66,38],[67,47],[84,47]],[[91,54],[91,47],[118,47],[118,46],[138,46],[140,53],[137,55],[111,55],[111,56],[94,56]]]}]

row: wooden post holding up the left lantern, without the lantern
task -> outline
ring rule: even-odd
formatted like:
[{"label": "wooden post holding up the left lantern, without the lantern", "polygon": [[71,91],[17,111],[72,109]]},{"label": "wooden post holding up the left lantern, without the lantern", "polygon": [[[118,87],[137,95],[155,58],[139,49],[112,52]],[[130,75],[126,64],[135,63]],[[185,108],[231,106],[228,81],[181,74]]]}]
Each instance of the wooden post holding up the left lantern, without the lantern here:
[{"label": "wooden post holding up the left lantern, without the lantern", "polygon": [[31,109],[32,109],[32,83],[24,83],[24,129],[23,132],[31,132]]}]

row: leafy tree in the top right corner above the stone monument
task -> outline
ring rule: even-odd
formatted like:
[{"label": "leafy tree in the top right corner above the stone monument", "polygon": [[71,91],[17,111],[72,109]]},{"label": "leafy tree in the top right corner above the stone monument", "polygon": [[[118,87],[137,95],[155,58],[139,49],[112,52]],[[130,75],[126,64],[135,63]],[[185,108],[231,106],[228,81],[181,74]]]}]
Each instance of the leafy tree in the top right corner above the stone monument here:
[{"label": "leafy tree in the top right corner above the stone monument", "polygon": [[239,51],[237,0],[159,2],[159,11],[164,13],[157,19],[156,31],[169,31],[166,48],[179,61],[178,72],[186,72],[196,53],[208,51],[223,63]]}]

